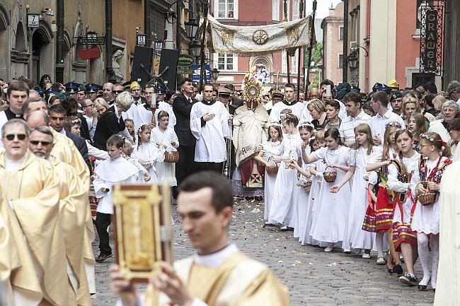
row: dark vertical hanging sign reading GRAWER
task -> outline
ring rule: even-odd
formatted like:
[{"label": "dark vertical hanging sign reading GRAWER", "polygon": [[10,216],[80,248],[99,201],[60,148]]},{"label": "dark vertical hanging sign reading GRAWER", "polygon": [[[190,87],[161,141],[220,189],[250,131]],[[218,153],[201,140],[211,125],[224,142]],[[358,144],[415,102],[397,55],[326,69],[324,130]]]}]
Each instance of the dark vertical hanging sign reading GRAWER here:
[{"label": "dark vertical hanging sign reading GRAWER", "polygon": [[436,50],[437,50],[437,11],[426,12],[426,37],[425,37],[425,71],[436,71]]}]

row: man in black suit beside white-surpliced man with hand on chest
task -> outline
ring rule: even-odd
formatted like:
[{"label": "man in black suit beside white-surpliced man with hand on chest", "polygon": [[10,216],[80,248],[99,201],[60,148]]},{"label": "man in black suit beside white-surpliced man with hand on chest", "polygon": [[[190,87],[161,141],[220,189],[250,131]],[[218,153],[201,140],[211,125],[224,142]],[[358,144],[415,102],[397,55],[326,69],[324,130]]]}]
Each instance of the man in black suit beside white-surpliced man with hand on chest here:
[{"label": "man in black suit beside white-surpliced man with hand on chest", "polygon": [[[190,111],[196,100],[192,99],[193,82],[191,78],[184,78],[180,82],[181,93],[174,99],[173,112],[176,114],[174,131],[179,139],[179,162],[176,164],[176,180],[178,185],[185,177],[195,172],[195,137],[190,131]],[[176,188],[173,196],[176,197]]]}]

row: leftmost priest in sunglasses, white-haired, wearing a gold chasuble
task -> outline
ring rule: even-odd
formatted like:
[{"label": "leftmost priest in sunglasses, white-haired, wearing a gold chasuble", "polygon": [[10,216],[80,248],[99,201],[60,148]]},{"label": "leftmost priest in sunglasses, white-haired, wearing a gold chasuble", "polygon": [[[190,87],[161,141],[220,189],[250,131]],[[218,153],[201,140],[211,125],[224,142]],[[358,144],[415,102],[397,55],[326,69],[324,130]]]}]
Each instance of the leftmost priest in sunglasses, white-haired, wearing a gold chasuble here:
[{"label": "leftmost priest in sunglasses, white-haired, wearing a gold chasuble", "polygon": [[54,180],[52,165],[28,151],[29,133],[23,119],[11,119],[1,129],[5,151],[0,153],[0,184],[2,196],[8,201],[2,209],[8,210],[18,224],[13,234],[16,240],[25,238],[27,245],[16,271],[22,277],[11,278],[14,298],[20,295],[23,301],[16,301],[16,305],[23,305],[25,300],[28,305],[74,305],[67,293],[59,184]]}]

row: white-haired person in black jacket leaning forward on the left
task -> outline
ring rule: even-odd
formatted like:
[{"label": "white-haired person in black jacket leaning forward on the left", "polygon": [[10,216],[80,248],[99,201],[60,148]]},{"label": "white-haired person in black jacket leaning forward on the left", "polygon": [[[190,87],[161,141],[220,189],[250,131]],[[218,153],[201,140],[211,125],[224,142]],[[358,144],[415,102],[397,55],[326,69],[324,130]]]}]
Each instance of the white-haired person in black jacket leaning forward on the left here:
[{"label": "white-haired person in black jacket leaning forward on the left", "polygon": [[[95,103],[96,104],[96,103]],[[102,105],[102,102],[101,102]],[[132,96],[128,92],[120,93],[115,100],[115,104],[108,108],[99,117],[98,125],[94,133],[94,146],[100,150],[107,150],[105,142],[110,136],[121,133],[127,139],[131,139],[130,133],[125,127],[125,120],[122,117],[122,112],[126,112],[132,105]],[[103,107],[98,110],[103,111]]]}]

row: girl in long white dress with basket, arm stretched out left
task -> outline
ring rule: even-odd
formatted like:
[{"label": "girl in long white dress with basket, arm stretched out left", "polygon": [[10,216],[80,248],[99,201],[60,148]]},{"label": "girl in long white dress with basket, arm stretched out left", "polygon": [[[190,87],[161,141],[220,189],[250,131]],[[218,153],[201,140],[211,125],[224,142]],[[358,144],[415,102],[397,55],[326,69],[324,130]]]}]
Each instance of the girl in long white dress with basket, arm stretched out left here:
[{"label": "girl in long white dress with basket, arm stretched out left", "polygon": [[[306,156],[304,162],[314,163],[316,160],[324,160],[328,166],[326,171],[336,172],[334,182],[343,182],[344,178],[349,180],[352,175],[348,165],[350,149],[343,146],[338,129],[328,129],[324,134],[324,139],[327,147],[320,148]],[[334,188],[336,184],[334,182],[323,180],[321,183],[317,217],[310,231],[314,240],[328,242],[328,247],[324,249],[324,252],[332,252],[335,243],[343,241],[343,229],[347,223],[347,204],[351,196],[348,182],[343,182],[343,188],[340,190]]]}]

